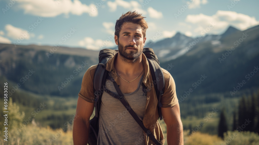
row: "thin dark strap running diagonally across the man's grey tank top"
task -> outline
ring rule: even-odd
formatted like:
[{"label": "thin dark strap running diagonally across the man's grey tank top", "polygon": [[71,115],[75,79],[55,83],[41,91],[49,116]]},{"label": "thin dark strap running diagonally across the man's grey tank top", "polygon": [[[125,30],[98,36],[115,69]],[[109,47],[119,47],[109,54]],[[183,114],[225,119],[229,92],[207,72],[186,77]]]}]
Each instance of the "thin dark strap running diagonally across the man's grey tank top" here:
[{"label": "thin dark strap running diagonally across the man's grey tank top", "polygon": [[126,101],[123,93],[121,92],[118,84],[114,81],[114,79],[111,76],[107,76],[107,79],[110,79],[113,82],[113,85],[118,93],[118,95],[114,94],[113,92],[105,89],[107,93],[109,93],[112,97],[119,99],[121,103],[127,108],[128,112],[131,114],[131,116],[136,120],[136,122],[139,124],[139,126],[146,132],[146,134],[150,137],[150,139],[156,144],[156,145],[161,145],[159,141],[155,138],[155,136],[151,133],[150,130],[148,130],[143,122],[139,119],[139,117],[136,115],[136,113],[132,110],[128,102]]}]

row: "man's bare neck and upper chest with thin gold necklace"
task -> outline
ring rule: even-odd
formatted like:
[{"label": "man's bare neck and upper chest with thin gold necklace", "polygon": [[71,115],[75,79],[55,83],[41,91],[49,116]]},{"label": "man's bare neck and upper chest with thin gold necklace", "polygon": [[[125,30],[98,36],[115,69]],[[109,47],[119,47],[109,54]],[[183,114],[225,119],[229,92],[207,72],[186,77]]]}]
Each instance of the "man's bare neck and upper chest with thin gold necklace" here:
[{"label": "man's bare neck and upper chest with thin gold necklace", "polygon": [[134,63],[125,62],[122,56],[118,54],[117,58],[114,61],[114,67],[119,75],[139,75],[139,73],[142,72],[142,70],[144,69],[142,54],[139,56],[139,59],[137,59]]}]

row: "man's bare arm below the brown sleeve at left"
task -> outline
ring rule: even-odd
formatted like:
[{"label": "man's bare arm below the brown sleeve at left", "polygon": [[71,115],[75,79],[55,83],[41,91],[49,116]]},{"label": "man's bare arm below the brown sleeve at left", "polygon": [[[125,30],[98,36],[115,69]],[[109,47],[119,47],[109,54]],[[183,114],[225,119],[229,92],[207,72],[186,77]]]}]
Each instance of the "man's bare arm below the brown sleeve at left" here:
[{"label": "man's bare arm below the brown sleeve at left", "polygon": [[73,126],[74,145],[86,145],[88,142],[90,117],[93,113],[94,103],[85,101],[78,97],[76,106],[76,117]]}]

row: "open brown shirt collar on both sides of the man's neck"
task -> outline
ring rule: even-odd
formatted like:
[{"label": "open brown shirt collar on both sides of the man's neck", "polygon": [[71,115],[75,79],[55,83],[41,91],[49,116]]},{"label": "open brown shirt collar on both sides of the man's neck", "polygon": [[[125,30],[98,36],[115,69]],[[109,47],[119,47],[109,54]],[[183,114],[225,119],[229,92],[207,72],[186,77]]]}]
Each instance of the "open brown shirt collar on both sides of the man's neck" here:
[{"label": "open brown shirt collar on both sides of the man's neck", "polygon": [[[143,76],[143,84],[150,89],[150,79],[148,79],[149,75],[149,65],[148,65],[148,60],[145,54],[142,52],[141,53],[142,57],[142,62],[144,64],[144,76]],[[106,70],[111,71],[113,75],[118,76],[114,67],[114,61],[117,59],[118,52],[114,54],[114,56],[106,63]],[[114,72],[112,71],[114,70]]]}]

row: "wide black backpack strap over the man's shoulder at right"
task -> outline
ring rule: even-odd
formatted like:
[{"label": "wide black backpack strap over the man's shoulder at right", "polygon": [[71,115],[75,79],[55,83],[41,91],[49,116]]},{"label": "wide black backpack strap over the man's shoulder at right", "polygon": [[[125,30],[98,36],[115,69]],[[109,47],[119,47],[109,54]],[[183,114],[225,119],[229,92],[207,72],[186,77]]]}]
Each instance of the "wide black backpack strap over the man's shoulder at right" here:
[{"label": "wide black backpack strap over the man's shoulder at right", "polygon": [[143,48],[143,53],[146,55],[147,60],[148,60],[153,84],[154,84],[155,91],[156,91],[156,97],[158,100],[159,118],[160,118],[160,120],[162,120],[163,117],[162,117],[162,112],[161,112],[161,107],[162,107],[161,97],[164,92],[164,75],[163,75],[162,69],[160,67],[159,60],[158,60],[157,56],[155,55],[153,49],[152,48]]}]

